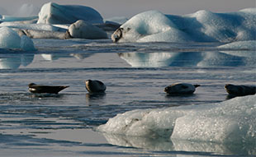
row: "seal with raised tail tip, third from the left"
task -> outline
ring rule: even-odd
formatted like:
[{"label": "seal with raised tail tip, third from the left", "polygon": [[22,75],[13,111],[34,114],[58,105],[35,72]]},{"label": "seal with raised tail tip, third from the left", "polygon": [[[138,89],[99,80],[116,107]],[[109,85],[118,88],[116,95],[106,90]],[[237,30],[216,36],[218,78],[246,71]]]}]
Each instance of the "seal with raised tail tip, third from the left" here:
[{"label": "seal with raised tail tip, third from the left", "polygon": [[200,85],[192,85],[188,83],[174,83],[164,88],[168,95],[192,95],[196,88]]}]

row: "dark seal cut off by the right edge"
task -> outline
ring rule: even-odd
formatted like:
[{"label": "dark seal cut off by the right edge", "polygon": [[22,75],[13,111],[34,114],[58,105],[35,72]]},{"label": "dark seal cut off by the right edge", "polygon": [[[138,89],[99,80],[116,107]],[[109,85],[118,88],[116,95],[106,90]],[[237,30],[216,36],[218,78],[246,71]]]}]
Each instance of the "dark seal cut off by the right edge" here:
[{"label": "dark seal cut off by the right edge", "polygon": [[229,95],[234,96],[255,95],[256,86],[226,84],[225,90]]}]

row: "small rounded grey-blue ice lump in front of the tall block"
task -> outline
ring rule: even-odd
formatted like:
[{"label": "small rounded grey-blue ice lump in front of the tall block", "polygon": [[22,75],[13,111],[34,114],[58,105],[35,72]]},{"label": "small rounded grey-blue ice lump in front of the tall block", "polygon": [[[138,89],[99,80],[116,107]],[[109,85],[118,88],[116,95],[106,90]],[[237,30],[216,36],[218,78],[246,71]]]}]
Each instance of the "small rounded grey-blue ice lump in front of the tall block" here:
[{"label": "small rounded grey-blue ice lump in front of the tall block", "polygon": [[69,35],[73,38],[107,39],[107,33],[85,21],[76,21],[69,26]]}]

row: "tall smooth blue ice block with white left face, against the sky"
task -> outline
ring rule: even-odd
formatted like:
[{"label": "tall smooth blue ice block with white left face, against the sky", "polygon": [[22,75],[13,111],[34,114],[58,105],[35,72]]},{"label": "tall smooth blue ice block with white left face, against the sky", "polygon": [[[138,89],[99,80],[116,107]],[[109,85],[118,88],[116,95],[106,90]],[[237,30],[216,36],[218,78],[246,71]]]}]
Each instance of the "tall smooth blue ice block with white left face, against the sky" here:
[{"label": "tall smooth blue ice block with white left face, against the sky", "polygon": [[76,5],[59,5],[54,2],[45,3],[40,9],[37,23],[72,24],[83,20],[88,23],[103,23],[102,16],[92,7]]}]

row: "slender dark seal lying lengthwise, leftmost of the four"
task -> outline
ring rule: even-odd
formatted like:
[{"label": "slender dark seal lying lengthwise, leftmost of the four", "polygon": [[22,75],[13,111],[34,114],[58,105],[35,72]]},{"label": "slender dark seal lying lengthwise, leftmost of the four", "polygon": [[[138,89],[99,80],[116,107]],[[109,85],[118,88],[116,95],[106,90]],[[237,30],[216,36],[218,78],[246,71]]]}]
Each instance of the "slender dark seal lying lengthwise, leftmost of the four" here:
[{"label": "slender dark seal lying lengthwise, leftmost of the four", "polygon": [[58,94],[60,90],[68,88],[67,85],[36,85],[35,83],[30,83],[28,85],[29,91],[31,93],[49,93]]}]

